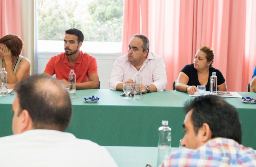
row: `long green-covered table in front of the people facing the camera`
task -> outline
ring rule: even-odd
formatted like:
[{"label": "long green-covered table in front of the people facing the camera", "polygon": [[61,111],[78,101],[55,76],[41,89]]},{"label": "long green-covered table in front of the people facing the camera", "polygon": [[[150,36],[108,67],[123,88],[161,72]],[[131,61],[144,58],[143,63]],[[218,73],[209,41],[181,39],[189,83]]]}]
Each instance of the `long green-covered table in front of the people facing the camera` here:
[{"label": "long green-covered table in front of the people facing the camera", "polygon": [[[256,93],[238,92],[256,98]],[[73,116],[67,131],[76,137],[108,146],[156,147],[158,127],[168,120],[172,128],[172,147],[178,147],[184,132],[183,105],[193,99],[187,93],[163,91],[147,93],[143,99],[123,99],[121,91],[109,89],[78,90],[72,99]],[[98,96],[97,103],[85,103],[84,97]],[[11,103],[13,95],[0,98],[0,136],[12,134]],[[242,123],[242,143],[256,149],[256,104],[242,103],[240,98],[224,98],[234,105]]]}]

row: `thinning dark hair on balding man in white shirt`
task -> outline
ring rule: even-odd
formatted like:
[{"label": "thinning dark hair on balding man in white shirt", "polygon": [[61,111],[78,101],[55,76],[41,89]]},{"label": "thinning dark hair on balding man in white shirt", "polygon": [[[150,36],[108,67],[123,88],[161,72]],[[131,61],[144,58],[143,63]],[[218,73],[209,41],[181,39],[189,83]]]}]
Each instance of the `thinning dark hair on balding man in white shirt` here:
[{"label": "thinning dark hair on balding man in white shirt", "polygon": [[15,85],[20,103],[20,115],[26,109],[34,129],[64,131],[71,120],[69,93],[60,81],[50,76],[34,75]]}]

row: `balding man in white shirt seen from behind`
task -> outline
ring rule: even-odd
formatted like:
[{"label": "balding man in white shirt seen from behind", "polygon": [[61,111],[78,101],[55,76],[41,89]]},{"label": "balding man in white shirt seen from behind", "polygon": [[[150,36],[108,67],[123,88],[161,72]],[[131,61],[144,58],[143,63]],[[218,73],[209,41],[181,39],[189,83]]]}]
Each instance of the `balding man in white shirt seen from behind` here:
[{"label": "balding man in white shirt seen from behind", "polygon": [[12,110],[14,135],[0,138],[1,167],[117,167],[104,147],[64,132],[72,105],[60,81],[39,75],[17,83]]}]

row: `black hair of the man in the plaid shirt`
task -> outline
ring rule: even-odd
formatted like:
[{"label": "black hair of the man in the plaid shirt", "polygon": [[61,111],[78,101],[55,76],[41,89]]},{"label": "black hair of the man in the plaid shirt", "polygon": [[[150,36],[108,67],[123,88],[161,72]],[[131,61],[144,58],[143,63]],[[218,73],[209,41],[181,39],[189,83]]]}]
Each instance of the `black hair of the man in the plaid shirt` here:
[{"label": "black hair of the man in the plaid shirt", "polygon": [[241,144],[242,130],[237,109],[214,95],[196,97],[187,101],[184,112],[192,110],[191,121],[196,134],[203,123],[212,131],[212,138],[225,137]]}]

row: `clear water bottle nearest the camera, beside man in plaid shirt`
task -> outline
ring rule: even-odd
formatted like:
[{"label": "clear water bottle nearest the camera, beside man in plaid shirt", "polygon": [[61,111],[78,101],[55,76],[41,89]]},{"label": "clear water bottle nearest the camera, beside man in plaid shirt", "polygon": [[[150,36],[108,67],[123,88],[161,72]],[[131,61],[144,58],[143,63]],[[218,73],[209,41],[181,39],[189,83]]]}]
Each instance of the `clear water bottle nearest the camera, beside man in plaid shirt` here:
[{"label": "clear water bottle nearest the camera, beside man in plaid shirt", "polygon": [[168,121],[162,121],[158,129],[158,157],[157,167],[164,161],[164,157],[171,151],[172,129],[168,127]]}]

